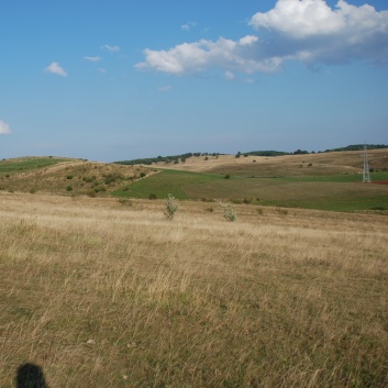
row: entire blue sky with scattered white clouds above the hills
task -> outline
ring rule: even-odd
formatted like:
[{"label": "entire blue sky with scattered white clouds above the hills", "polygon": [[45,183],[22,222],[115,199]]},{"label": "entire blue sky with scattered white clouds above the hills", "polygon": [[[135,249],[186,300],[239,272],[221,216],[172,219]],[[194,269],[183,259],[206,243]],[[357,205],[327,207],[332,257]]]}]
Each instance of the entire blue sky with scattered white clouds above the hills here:
[{"label": "entire blue sky with scattered white clouds above the hills", "polygon": [[0,0],[0,159],[388,144],[385,0]]}]

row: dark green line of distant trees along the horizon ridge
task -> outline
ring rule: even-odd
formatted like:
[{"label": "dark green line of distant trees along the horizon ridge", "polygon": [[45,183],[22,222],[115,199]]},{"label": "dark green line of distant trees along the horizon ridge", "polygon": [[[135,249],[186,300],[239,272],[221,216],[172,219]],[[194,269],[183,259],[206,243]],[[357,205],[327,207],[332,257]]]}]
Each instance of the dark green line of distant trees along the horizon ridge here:
[{"label": "dark green line of distant trees along the horizon ridge", "polygon": [[[340,152],[340,151],[363,151],[365,144],[354,144],[354,145],[348,145],[346,147],[341,147],[341,148],[332,148],[332,149],[325,149],[325,151],[319,151],[318,153],[329,153],[329,152]],[[379,149],[379,148],[388,148],[388,145],[386,144],[366,144],[366,147],[368,149]],[[246,153],[241,153],[240,151],[235,154],[235,157],[241,157],[241,156],[282,156],[282,155],[303,155],[303,154],[310,154],[308,151],[302,151],[302,149],[297,149],[293,153],[288,153],[288,152],[281,152],[281,151],[251,151]],[[314,152],[311,152],[311,154],[314,154]],[[180,155],[169,155],[169,156],[157,156],[157,157],[147,157],[147,158],[141,158],[141,159],[131,159],[131,160],[120,160],[120,162],[114,162],[115,164],[119,165],[153,165],[154,163],[165,163],[165,164],[178,164],[180,163],[186,163],[186,160],[192,156],[197,157],[204,157],[204,159],[208,159],[209,156],[218,157],[219,155],[225,155],[225,154],[220,154],[220,153],[186,153],[186,154],[180,154]]]}]

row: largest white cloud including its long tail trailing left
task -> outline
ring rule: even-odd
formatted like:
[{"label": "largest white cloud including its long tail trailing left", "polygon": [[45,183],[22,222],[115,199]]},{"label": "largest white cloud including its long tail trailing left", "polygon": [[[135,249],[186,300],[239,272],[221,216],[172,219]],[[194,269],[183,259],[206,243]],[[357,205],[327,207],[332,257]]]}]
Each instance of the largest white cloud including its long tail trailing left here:
[{"label": "largest white cloud including its long tail trailing left", "polygon": [[[184,30],[189,29],[185,25]],[[237,41],[220,37],[169,49],[146,48],[145,60],[135,67],[175,75],[219,68],[226,75],[276,71],[287,60],[388,63],[388,11],[378,12],[368,4],[340,0],[332,9],[324,0],[278,0],[268,12],[254,14],[248,26],[256,34]]]}]

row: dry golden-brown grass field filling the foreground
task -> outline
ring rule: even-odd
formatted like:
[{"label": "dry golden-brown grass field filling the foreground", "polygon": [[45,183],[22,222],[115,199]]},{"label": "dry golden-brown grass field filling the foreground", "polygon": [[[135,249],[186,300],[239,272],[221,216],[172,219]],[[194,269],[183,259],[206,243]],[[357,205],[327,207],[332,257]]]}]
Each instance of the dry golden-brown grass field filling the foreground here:
[{"label": "dry golden-brown grass field filling the foreground", "polygon": [[0,191],[0,387],[388,386],[385,215]]}]

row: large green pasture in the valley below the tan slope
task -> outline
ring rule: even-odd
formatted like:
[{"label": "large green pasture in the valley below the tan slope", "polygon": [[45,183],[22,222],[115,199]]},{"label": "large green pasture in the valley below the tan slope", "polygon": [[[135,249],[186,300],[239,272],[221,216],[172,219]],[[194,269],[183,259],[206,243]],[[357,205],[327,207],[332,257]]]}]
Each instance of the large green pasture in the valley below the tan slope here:
[{"label": "large green pasture in the valley below the tan slope", "polygon": [[[388,173],[373,173],[372,180],[388,180]],[[162,170],[114,196],[229,200],[263,206],[331,211],[388,210],[388,186],[363,184],[362,175],[319,177],[245,178],[223,175]]]}]

